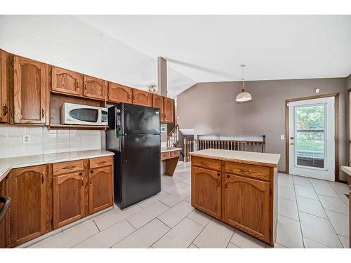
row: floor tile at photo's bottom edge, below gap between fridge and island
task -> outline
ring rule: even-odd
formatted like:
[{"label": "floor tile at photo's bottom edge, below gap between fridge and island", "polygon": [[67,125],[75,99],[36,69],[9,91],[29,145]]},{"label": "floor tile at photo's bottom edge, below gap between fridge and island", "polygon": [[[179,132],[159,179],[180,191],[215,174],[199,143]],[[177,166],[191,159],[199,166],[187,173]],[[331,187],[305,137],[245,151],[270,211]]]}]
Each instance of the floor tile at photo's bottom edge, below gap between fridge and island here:
[{"label": "floor tile at photo's bottom edge, below gap between fridge and island", "polygon": [[[152,245],[153,248],[187,248],[204,229],[201,225],[185,217],[176,227]],[[194,244],[196,245],[196,244]],[[197,245],[198,246],[198,245]]]}]

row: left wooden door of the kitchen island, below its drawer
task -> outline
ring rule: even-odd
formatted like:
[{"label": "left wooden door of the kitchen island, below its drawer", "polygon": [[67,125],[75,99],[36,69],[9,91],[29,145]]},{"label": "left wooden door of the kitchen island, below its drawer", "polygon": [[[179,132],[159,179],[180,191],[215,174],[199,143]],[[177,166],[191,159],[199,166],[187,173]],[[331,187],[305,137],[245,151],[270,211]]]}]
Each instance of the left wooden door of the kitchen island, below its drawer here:
[{"label": "left wooden door of the kitchen island, below its drawer", "polygon": [[192,206],[220,219],[221,176],[214,170],[192,167]]}]

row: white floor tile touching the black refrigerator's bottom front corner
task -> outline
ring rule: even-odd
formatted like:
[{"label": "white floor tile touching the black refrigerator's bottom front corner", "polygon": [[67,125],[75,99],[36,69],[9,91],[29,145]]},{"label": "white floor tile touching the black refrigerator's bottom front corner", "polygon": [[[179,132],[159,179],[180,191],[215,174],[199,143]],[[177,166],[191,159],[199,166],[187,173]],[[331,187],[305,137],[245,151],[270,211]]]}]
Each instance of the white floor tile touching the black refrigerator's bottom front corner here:
[{"label": "white floor tile touching the black refrigerator's bottom front corner", "polygon": [[107,227],[111,227],[112,224],[116,224],[117,222],[126,219],[126,217],[134,215],[135,213],[138,213],[142,210],[143,208],[140,208],[139,205],[133,205],[129,208],[125,208],[124,210],[120,210],[119,208],[114,206],[113,210],[111,210],[110,212],[107,212],[103,215],[100,215],[99,217],[94,218],[94,222],[98,226],[100,231],[102,231],[104,229],[107,229]]}]

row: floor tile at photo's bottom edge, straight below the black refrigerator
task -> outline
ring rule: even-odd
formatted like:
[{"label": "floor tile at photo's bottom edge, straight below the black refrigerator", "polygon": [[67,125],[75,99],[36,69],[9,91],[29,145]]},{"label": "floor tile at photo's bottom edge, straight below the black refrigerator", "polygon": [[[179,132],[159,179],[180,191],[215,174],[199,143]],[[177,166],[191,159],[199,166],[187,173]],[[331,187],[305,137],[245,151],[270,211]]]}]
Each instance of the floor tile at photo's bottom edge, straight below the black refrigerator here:
[{"label": "floor tile at photo's bottom edge, straight below the black refrigerator", "polygon": [[164,236],[169,229],[170,228],[167,227],[166,224],[158,219],[154,219],[145,224],[144,227],[140,227],[140,229],[119,241],[119,243],[112,246],[112,248],[149,248],[153,243],[159,240],[161,236]]}]

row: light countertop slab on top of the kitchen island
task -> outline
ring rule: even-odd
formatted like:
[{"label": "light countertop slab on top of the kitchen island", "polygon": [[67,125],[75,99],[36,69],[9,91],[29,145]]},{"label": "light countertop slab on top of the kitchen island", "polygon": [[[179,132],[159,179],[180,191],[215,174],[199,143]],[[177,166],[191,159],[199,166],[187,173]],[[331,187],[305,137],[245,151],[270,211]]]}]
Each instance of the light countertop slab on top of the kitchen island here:
[{"label": "light countertop slab on top of the kitchen island", "polygon": [[223,149],[204,149],[193,151],[191,156],[198,156],[221,161],[256,164],[258,166],[277,167],[280,154],[266,154],[252,151],[232,151]]}]

